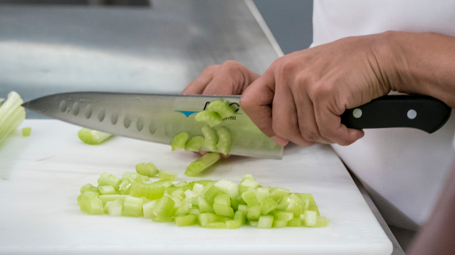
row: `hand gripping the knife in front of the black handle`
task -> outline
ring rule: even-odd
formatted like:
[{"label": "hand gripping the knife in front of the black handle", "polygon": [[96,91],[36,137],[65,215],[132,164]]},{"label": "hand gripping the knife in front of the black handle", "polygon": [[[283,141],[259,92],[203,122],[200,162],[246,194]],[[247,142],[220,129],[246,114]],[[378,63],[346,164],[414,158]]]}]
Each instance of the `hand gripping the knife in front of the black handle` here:
[{"label": "hand gripping the knife in front of the black handle", "polygon": [[280,57],[246,89],[240,106],[282,144],[351,144],[363,131],[346,128],[340,115],[391,90],[382,41],[381,34],[350,37]]}]

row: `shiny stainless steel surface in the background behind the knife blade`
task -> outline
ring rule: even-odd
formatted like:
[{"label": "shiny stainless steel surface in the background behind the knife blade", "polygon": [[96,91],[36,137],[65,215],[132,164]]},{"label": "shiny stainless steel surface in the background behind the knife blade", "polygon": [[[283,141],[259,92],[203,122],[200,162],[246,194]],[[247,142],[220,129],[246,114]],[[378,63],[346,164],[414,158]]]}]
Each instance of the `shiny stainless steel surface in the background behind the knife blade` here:
[{"label": "shiny stainless steel surface in the background behind the knife blade", "polygon": [[68,91],[178,93],[205,67],[229,59],[262,73],[278,53],[252,3],[0,5],[0,96],[11,90],[24,100]]}]

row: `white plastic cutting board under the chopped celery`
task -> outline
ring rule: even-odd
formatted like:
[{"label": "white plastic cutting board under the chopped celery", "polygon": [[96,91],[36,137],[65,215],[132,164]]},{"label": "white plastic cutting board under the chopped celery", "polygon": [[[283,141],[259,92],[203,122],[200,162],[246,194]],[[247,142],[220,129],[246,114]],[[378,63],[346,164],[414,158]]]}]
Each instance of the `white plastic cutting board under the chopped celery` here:
[{"label": "white plastic cutting board under the chopped celery", "polygon": [[[0,147],[0,254],[390,254],[392,244],[328,145],[287,147],[283,160],[232,156],[198,178],[185,176],[197,155],[169,145],[114,137],[87,145],[77,126],[25,120]],[[326,228],[204,229],[144,218],[88,215],[76,198],[104,171],[116,176],[152,161],[179,179],[228,179],[251,173],[263,186],[312,193]]]}]

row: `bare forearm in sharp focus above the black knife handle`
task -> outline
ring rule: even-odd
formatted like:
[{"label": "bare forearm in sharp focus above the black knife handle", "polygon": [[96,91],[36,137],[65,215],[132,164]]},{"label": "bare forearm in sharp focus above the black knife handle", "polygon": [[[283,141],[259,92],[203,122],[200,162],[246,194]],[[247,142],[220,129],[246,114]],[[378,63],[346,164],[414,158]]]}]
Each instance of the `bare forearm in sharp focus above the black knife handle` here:
[{"label": "bare forearm in sharp focus above the black knife handle", "polygon": [[455,37],[389,31],[382,38],[380,55],[392,90],[430,95],[455,107]]}]

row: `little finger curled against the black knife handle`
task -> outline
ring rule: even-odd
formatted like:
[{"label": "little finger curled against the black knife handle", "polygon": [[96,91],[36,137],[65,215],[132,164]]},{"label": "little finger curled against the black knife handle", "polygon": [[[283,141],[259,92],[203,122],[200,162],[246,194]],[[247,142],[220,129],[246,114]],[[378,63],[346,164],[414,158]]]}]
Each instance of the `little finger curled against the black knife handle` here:
[{"label": "little finger curled against the black knife handle", "polygon": [[338,143],[340,145],[349,145],[365,135],[363,130],[347,128],[341,124],[341,117],[339,113],[330,111],[326,107],[318,108],[315,105],[315,117],[319,127],[319,132],[326,139]]}]

